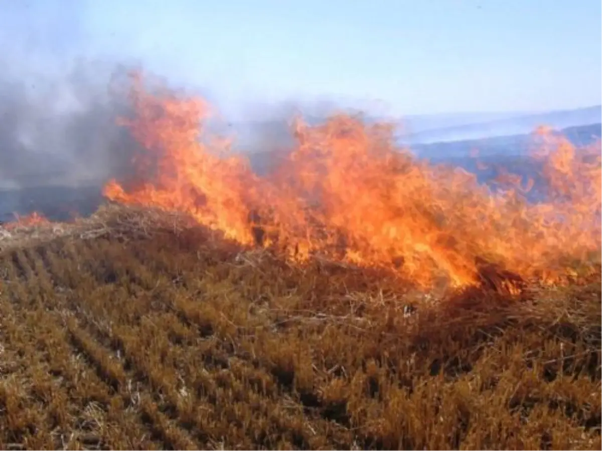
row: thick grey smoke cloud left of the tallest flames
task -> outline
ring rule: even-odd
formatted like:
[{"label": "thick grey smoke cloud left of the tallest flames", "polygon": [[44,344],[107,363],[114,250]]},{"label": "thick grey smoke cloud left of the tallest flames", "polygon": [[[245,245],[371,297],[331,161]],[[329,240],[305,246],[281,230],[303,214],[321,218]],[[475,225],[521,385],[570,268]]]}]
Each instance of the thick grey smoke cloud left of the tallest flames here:
[{"label": "thick grey smoke cloud left of the tallest flames", "polygon": [[[5,188],[103,183],[131,170],[128,67],[81,61],[61,78],[0,75],[0,177]],[[102,75],[102,73],[105,75]]]}]

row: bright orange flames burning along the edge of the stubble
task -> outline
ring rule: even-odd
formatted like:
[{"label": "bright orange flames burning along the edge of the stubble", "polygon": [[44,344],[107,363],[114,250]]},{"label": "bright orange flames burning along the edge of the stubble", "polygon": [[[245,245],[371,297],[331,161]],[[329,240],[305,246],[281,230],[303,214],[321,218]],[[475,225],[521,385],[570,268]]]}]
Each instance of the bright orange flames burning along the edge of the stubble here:
[{"label": "bright orange flames burning along the edge of the stubble", "polygon": [[550,130],[537,130],[533,155],[545,200],[529,203],[532,180],[501,173],[493,191],[399,149],[392,127],[347,115],[317,126],[297,120],[294,149],[259,177],[229,143],[201,139],[209,112],[201,100],[150,93],[140,79],[131,96],[125,124],[148,151],[138,164],[154,173],[134,188],[113,180],[105,195],[188,213],[244,245],[387,266],[423,287],[479,283],[484,264],[556,280],[600,248],[600,150],[576,149]]}]

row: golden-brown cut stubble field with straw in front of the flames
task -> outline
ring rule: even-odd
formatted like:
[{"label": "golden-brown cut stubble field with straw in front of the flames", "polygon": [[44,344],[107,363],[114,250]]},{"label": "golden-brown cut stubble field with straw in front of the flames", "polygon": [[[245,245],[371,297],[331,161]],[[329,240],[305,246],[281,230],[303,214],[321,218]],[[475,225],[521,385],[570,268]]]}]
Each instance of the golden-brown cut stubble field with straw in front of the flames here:
[{"label": "golden-brown cut stubble field with straw in front of the flames", "polygon": [[435,302],[186,225],[0,238],[5,449],[602,447],[602,275]]}]

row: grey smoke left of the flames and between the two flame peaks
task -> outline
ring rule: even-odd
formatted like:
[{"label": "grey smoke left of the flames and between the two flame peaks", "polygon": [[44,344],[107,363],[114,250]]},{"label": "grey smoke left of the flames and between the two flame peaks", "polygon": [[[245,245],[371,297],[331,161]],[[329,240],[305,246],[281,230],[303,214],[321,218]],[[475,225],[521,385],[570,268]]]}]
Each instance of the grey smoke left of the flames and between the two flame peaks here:
[{"label": "grey smoke left of the flames and between the two flame peaks", "polygon": [[[11,67],[0,72],[0,221],[34,210],[55,220],[87,215],[102,202],[109,179],[127,184],[149,178],[132,163],[144,150],[117,121],[132,115],[129,74],[142,64],[73,58],[68,70],[52,72],[19,67],[2,56],[0,64]],[[153,78],[149,88],[154,81],[173,85]],[[295,114],[308,111],[315,120],[333,109],[289,100],[263,105],[261,117],[249,111],[234,123],[218,117],[208,125],[234,137],[235,150],[265,173],[290,148]]]}]

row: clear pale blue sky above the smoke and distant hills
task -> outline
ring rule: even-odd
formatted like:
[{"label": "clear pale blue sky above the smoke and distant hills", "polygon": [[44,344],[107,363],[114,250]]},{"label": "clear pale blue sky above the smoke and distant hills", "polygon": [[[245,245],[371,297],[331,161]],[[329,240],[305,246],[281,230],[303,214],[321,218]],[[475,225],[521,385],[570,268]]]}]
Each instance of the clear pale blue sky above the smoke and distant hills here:
[{"label": "clear pale blue sky above the smoke and distant hills", "polygon": [[40,61],[137,58],[226,111],[290,99],[394,115],[602,103],[594,0],[5,1],[4,38],[35,28]]}]

